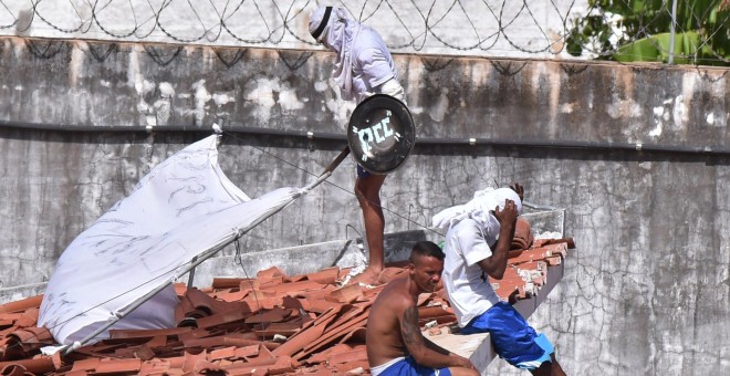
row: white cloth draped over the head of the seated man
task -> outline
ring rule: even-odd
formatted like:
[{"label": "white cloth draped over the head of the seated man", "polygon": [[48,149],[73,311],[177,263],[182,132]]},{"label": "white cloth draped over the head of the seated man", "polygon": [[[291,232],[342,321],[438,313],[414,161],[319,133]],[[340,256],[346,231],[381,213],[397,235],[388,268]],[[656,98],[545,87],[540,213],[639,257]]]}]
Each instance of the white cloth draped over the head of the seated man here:
[{"label": "white cloth draped over the head of the seated man", "polygon": [[512,188],[486,188],[476,191],[474,197],[469,202],[439,211],[431,219],[431,223],[434,227],[448,230],[462,219],[471,218],[486,231],[497,234],[500,226],[492,211],[497,207],[504,210],[504,199],[514,201],[518,212],[522,212],[520,196]]}]

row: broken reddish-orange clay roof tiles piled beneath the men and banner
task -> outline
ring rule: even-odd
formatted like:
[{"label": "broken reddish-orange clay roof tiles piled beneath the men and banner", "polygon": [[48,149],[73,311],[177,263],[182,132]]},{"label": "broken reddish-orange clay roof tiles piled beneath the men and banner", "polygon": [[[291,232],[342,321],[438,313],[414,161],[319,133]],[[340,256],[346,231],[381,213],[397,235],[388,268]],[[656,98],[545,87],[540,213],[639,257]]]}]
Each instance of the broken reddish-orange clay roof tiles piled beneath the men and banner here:
[{"label": "broken reddish-orange clay roof tiles piled beneath the men and banner", "polygon": [[[528,240],[529,250],[514,244],[504,278],[491,281],[505,301],[533,294],[548,265],[573,248],[570,239]],[[387,268],[380,282],[405,272]],[[63,358],[40,355],[54,344],[48,330],[34,326],[42,295],[11,302],[0,305],[0,375],[368,374],[365,325],[384,284],[340,286],[346,273],[331,268],[289,276],[272,268],[254,279],[216,279],[206,290],[176,285],[178,327],[112,331]],[[430,334],[455,326],[442,289],[418,303]]]}]

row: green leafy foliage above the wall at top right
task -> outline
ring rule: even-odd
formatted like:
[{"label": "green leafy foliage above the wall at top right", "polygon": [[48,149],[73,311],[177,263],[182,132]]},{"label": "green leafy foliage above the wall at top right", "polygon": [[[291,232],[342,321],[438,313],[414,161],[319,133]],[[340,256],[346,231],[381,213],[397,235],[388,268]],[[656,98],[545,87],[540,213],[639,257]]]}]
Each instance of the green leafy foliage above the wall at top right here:
[{"label": "green leafy foliage above the wall at top right", "polygon": [[[580,56],[590,50],[604,60],[668,62],[671,0],[588,3],[595,11],[575,21],[566,38],[569,53]],[[607,15],[618,21],[612,24]],[[674,62],[730,66],[730,7],[723,9],[721,0],[677,0]]]}]

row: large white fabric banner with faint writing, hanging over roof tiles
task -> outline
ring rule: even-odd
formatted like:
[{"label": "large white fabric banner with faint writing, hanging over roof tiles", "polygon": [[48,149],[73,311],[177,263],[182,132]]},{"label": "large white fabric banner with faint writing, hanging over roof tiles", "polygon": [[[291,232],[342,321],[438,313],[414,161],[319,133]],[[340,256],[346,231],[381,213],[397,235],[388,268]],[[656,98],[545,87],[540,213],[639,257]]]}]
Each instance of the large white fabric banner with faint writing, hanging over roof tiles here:
[{"label": "large white fabric banner with faint writing, hanging over roof tiles", "polygon": [[[71,344],[167,285],[111,328],[174,327],[173,276],[194,257],[301,194],[281,188],[250,200],[220,169],[217,138],[207,137],[160,163],[71,242],[49,281],[39,326],[48,327],[59,343]],[[108,331],[95,340],[107,336]]]}]

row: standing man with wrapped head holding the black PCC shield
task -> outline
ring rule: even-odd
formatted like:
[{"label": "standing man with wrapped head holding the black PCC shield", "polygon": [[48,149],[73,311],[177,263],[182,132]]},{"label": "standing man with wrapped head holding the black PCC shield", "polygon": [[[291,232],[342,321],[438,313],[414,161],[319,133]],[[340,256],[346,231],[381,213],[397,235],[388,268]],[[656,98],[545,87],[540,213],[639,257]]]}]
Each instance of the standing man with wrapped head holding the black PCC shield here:
[{"label": "standing man with wrapped head holding the black PCC shield", "polygon": [[[310,15],[309,29],[317,42],[336,53],[332,73],[343,100],[359,104],[373,94],[387,94],[405,103],[390,52],[375,30],[351,19],[340,7],[317,8]],[[380,187],[385,177],[357,166],[355,196],[363,210],[369,262],[354,282],[376,284],[384,269]]]}]

